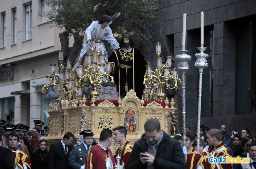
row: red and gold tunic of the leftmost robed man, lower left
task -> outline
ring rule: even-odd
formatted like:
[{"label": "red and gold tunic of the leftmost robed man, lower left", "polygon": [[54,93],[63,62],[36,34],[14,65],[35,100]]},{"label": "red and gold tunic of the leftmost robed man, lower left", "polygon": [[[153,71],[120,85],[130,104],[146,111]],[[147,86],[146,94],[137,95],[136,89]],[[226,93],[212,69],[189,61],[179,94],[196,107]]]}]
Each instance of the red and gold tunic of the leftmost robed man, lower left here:
[{"label": "red and gold tunic of the leftmost robed man, lower left", "polygon": [[23,169],[23,164],[27,165],[27,167],[30,169],[30,161],[27,156],[27,154],[23,151],[19,151],[18,148],[12,150],[13,156],[14,156],[14,166],[19,166],[21,169]]}]

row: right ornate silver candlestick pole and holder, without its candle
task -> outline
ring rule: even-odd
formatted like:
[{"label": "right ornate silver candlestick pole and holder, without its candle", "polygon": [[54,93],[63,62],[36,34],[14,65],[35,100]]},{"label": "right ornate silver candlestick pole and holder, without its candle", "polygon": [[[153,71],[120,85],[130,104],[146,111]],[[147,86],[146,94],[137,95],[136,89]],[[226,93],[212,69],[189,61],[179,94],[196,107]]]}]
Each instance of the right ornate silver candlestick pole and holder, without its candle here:
[{"label": "right ornate silver candlestick pole and holder, without its candle", "polygon": [[197,47],[197,49],[200,51],[200,53],[196,53],[196,62],[195,66],[199,69],[199,92],[198,92],[198,115],[197,115],[197,137],[196,137],[196,146],[197,146],[197,152],[199,152],[199,138],[200,138],[200,120],[201,120],[201,99],[202,99],[202,74],[203,69],[208,66],[208,63],[206,63],[206,58],[208,58],[208,54],[204,53],[206,50],[206,47],[204,47],[203,44],[201,44],[201,47]]}]

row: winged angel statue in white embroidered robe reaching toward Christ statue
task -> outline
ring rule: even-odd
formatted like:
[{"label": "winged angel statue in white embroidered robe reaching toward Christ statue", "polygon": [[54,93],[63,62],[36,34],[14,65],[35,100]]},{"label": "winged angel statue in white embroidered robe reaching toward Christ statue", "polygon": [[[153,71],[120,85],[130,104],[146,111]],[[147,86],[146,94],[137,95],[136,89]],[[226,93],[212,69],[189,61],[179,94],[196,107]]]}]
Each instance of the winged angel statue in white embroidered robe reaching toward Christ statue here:
[{"label": "winged angel statue in white embroidered robe reaching toward Christ statue", "polygon": [[[93,21],[92,24],[85,30],[85,41],[81,49],[80,56],[77,63],[75,64],[73,71],[76,71],[77,65],[82,65],[83,70],[87,65],[88,54],[92,55],[91,61],[97,62],[99,60],[97,56],[96,42],[99,40],[100,43],[100,54],[105,54],[105,61],[108,61],[108,54],[103,43],[106,40],[113,49],[119,48],[119,43],[114,38],[112,31],[108,25],[120,15],[120,12],[116,13],[112,17],[108,15],[102,15],[98,21]],[[86,53],[86,55],[85,55]],[[85,57],[84,57],[85,55]]]}]

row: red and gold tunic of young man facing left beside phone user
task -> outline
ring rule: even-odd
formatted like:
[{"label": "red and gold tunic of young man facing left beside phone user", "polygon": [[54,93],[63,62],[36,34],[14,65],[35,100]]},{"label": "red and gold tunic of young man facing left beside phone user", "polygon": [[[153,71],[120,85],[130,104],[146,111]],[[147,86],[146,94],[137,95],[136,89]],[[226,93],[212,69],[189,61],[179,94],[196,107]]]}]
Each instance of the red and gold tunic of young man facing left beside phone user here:
[{"label": "red and gold tunic of young man facing left beside phone user", "polygon": [[[119,156],[121,157],[120,165],[123,165],[124,169],[125,169],[125,164],[127,164],[129,161],[129,156],[130,156],[131,152],[132,152],[132,145],[130,144],[130,142],[127,139],[124,142],[123,148],[118,147],[118,149],[116,150],[115,157],[117,156],[117,154],[119,154]],[[117,161],[116,161],[116,163],[117,163]]]}]

